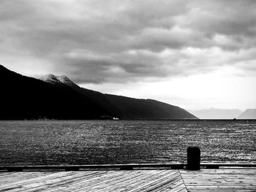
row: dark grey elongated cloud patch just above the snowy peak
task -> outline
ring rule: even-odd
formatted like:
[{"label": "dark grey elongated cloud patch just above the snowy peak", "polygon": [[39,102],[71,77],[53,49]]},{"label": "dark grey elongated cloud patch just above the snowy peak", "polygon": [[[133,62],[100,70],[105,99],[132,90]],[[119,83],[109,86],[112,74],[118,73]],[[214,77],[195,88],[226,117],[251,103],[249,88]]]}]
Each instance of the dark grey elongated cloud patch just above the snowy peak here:
[{"label": "dark grey elongated cloud patch just above the snowy peak", "polygon": [[66,58],[61,62],[61,66],[64,74],[69,74],[69,77],[78,83],[135,82],[141,78],[162,78],[170,75],[167,71],[162,70],[162,67],[152,64],[116,63],[116,61],[89,60],[87,58]]}]

